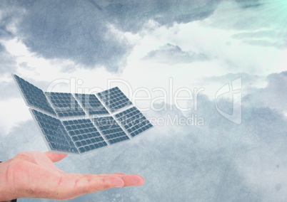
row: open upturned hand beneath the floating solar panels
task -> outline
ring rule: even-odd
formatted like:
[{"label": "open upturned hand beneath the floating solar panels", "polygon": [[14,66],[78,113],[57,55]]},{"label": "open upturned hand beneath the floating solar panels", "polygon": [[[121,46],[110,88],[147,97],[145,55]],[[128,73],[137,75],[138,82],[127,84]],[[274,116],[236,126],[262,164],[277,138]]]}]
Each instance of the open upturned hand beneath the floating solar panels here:
[{"label": "open upturned hand beneath the floating solar panels", "polygon": [[54,165],[67,155],[27,151],[0,164],[0,201],[14,198],[71,199],[107,188],[141,186],[139,175],[67,174]]}]

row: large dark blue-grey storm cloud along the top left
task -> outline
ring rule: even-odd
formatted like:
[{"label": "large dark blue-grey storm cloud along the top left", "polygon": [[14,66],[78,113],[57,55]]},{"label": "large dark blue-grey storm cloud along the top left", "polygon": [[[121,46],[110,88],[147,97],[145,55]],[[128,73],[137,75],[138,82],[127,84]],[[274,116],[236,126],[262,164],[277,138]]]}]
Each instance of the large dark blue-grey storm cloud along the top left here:
[{"label": "large dark blue-grey storm cloud along the top left", "polygon": [[[218,1],[4,1],[5,10],[24,9],[16,35],[45,58],[66,58],[88,68],[124,66],[131,44],[114,36],[109,24],[136,33],[149,20],[161,26],[210,16]],[[12,15],[13,16],[13,15]],[[7,21],[8,23],[8,21]]]}]

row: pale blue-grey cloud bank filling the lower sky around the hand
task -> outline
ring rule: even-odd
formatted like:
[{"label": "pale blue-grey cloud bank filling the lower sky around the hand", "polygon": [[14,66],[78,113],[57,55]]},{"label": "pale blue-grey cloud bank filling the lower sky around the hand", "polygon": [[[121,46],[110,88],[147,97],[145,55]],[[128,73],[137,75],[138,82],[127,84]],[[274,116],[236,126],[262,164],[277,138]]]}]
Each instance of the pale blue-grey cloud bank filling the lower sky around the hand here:
[{"label": "pale blue-grey cloud bank filling the lower sky around the hand", "polygon": [[[121,171],[146,178],[142,187],[101,191],[70,201],[270,201],[271,197],[273,201],[286,200],[283,171],[287,170],[287,125],[282,115],[269,108],[243,107],[243,122],[237,125],[219,115],[208,97],[200,96],[198,105],[196,113],[205,119],[203,127],[158,126],[130,142],[84,156],[70,155],[57,163],[67,172]],[[174,106],[173,109],[148,112],[148,117],[191,117],[193,113],[183,115]],[[23,122],[11,131],[10,138],[1,141],[2,158],[8,159],[21,150],[46,149],[36,123]],[[11,137],[16,136],[20,138],[14,141]],[[280,169],[276,169],[278,164]],[[251,176],[250,171],[258,173]],[[275,189],[278,184],[280,191]]]}]

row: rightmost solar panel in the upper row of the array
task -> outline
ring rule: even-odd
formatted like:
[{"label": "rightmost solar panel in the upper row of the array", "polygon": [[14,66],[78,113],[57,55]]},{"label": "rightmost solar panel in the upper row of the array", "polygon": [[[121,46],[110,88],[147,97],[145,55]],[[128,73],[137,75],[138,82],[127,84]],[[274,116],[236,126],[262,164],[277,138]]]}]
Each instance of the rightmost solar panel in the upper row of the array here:
[{"label": "rightmost solar panel in the upper row of the array", "polygon": [[109,90],[105,90],[104,92],[99,92],[97,95],[99,95],[100,99],[105,103],[106,107],[111,110],[111,112],[116,112],[124,107],[132,105],[129,98],[119,90],[119,87],[113,87]]}]

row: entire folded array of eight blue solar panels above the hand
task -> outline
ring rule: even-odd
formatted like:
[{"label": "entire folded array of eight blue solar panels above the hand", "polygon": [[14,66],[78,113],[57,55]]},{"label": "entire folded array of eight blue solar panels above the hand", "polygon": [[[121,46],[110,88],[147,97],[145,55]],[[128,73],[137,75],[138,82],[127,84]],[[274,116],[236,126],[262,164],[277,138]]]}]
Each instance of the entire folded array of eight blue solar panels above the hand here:
[{"label": "entire folded array of eight blue solar panels above the hand", "polygon": [[52,151],[83,154],[124,142],[153,127],[119,87],[74,97],[43,92],[17,75],[14,78],[26,104],[36,109],[31,109],[31,114]]}]

